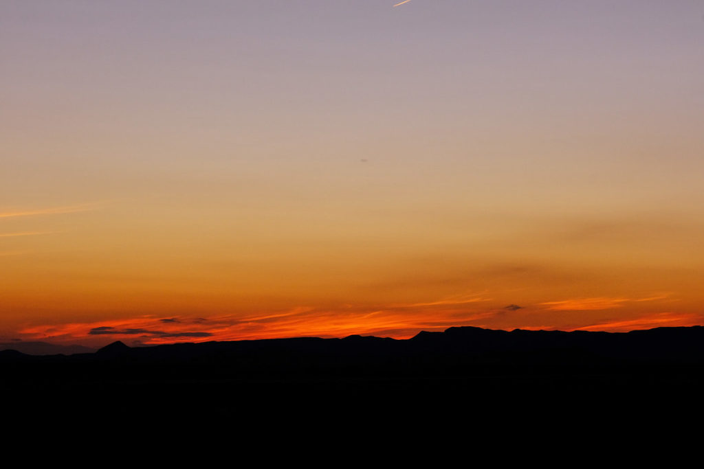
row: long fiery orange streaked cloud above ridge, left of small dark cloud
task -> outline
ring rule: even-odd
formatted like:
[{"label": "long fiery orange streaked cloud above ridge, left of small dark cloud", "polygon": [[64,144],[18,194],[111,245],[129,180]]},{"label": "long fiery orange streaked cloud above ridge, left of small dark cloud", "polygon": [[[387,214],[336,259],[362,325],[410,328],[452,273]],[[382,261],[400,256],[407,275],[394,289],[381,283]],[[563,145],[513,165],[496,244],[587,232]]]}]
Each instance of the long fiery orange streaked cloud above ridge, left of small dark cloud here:
[{"label": "long fiery orange streaked cloud above ridge, left of small dark cloud", "polygon": [[[477,300],[479,301],[479,300]],[[408,338],[420,330],[444,330],[451,326],[478,325],[495,311],[443,309],[438,305],[462,302],[428,302],[426,309],[409,305],[384,309],[321,310],[296,307],[267,314],[189,316],[141,316],[85,323],[27,326],[18,331],[24,340],[81,342],[104,345],[113,340],[142,344],[203,342],[208,340],[248,340],[302,336],[344,337],[352,334],[377,334]]]}]

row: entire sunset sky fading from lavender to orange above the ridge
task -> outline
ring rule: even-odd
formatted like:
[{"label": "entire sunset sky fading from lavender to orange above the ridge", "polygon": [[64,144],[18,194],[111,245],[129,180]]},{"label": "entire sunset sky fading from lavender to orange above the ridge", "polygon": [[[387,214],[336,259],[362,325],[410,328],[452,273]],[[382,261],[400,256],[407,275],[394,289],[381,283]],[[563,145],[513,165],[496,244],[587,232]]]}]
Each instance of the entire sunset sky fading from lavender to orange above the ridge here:
[{"label": "entire sunset sky fading from lavender to orange above the ridge", "polygon": [[704,324],[704,2],[0,0],[0,342]]}]

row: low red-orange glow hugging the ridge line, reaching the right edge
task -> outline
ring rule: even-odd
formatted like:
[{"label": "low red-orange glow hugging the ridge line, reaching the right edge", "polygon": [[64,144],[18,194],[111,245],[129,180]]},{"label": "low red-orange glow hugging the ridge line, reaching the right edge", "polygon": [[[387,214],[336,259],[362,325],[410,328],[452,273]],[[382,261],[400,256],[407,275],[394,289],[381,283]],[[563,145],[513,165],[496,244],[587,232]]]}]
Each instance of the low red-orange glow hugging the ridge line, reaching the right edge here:
[{"label": "low red-orange glow hugging the ridge line, reaching the right edge", "polygon": [[[515,310],[514,310],[515,311]],[[291,337],[341,338],[347,335],[378,335],[406,339],[421,330],[439,331],[455,326],[513,330],[629,330],[661,326],[696,326],[702,317],[673,312],[613,319],[579,327],[555,328],[513,319],[516,326],[502,326],[506,311],[466,311],[429,308],[409,311],[405,307],[377,311],[320,311],[299,307],[277,314],[218,315],[206,317],[145,315],[65,324],[25,326],[18,330],[23,340],[84,343],[94,346],[122,340],[130,345],[158,345],[175,342],[257,340]],[[522,313],[521,313],[522,314]],[[523,319],[525,321],[525,318]]]}]

